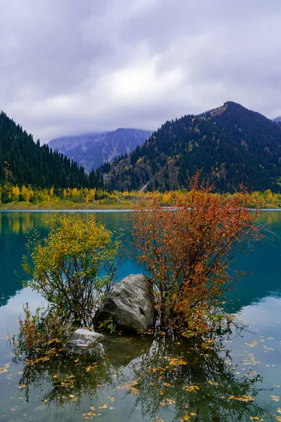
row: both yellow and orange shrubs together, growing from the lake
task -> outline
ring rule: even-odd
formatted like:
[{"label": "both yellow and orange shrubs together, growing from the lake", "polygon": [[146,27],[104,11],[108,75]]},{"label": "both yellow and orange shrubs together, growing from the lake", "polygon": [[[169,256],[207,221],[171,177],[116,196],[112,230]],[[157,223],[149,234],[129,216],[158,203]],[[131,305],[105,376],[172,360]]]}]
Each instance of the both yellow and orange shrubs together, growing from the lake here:
[{"label": "both yellow and orange shrubs together, growing from the lake", "polygon": [[[175,192],[168,209],[162,207],[158,193],[152,193],[131,212],[131,245],[126,252],[150,274],[155,307],[150,328],[155,333],[192,337],[211,333],[223,320],[229,324],[231,317],[223,313],[222,303],[243,275],[230,275],[230,263],[261,237],[259,211],[247,210],[245,193],[217,196],[199,178],[197,174],[191,181],[190,191]],[[34,316],[25,307],[20,320],[24,346],[36,349],[36,338],[50,343],[79,327],[120,328],[112,318],[97,325],[95,315],[115,286],[122,255],[122,233],[105,228],[93,216],[85,220],[56,213],[46,238],[40,239],[35,231],[27,242],[23,267],[30,276],[27,286],[37,290],[48,307]]]}]

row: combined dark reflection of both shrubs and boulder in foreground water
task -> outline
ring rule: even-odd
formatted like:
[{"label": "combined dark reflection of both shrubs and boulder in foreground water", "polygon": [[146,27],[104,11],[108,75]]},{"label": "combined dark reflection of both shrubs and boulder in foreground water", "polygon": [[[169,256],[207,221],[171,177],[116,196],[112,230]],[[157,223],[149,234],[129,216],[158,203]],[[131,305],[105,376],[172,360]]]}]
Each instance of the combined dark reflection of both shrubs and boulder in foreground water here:
[{"label": "combined dark reflection of both shrubs and boulder in foreground water", "polygon": [[106,421],[157,421],[161,416],[176,422],[197,416],[196,421],[234,422],[262,418],[266,412],[254,402],[261,377],[251,372],[237,377],[221,341],[115,335],[103,348],[100,357],[100,350],[71,354],[58,346],[25,361],[19,381],[25,399],[35,405],[30,395],[34,387],[40,389],[48,420],[65,407],[73,420],[100,414]]}]

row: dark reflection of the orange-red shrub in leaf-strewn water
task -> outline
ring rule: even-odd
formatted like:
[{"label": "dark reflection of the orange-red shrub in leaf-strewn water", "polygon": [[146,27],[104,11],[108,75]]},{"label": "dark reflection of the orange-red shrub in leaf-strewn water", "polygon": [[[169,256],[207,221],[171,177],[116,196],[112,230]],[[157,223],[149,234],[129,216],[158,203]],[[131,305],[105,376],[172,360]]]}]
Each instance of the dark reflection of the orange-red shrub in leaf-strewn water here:
[{"label": "dark reflection of the orange-red shrub in leaf-strewn water", "polygon": [[169,409],[174,421],[196,416],[193,420],[236,422],[264,414],[254,402],[261,376],[237,378],[222,342],[158,338],[130,368],[138,381],[135,408],[141,407],[143,418],[155,418],[160,408]]}]

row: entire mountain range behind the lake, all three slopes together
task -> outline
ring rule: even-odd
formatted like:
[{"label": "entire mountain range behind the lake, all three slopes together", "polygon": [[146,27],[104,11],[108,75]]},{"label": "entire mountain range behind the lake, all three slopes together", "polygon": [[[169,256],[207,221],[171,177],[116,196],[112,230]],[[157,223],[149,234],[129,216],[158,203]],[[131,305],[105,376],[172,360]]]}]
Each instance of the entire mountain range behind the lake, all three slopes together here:
[{"label": "entire mountain range behind the lake, all three slopes together", "polygon": [[[150,134],[117,129],[40,146],[1,112],[0,185],[102,188],[105,182],[121,191],[164,191],[187,187],[188,177],[201,170],[221,193],[242,186],[281,191],[281,124],[240,104],[228,101],[200,115],[185,115]],[[91,171],[98,162],[100,167]]]}]

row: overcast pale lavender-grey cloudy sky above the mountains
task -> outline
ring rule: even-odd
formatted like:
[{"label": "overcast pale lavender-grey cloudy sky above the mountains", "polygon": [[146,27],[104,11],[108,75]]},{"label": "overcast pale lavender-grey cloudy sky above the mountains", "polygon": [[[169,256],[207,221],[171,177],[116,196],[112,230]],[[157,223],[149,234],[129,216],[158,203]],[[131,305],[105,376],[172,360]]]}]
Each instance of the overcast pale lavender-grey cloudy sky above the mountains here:
[{"label": "overcast pale lavender-grey cloudy sky above the mountains", "polygon": [[281,115],[280,0],[0,0],[0,108],[34,139],[237,101]]}]

